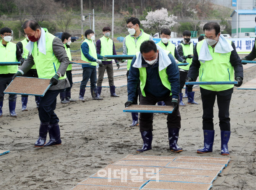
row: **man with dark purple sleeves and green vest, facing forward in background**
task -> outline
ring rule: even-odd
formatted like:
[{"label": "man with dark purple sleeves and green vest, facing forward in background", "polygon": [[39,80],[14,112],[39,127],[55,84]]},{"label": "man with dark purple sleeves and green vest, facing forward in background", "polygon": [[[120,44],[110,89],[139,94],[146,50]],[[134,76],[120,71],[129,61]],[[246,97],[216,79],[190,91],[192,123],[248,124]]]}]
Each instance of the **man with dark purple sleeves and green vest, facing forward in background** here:
[{"label": "man with dark purple sleeves and green vest, facing forward in background", "polygon": [[[113,40],[109,38],[110,31],[111,31],[110,27],[107,27],[107,26],[102,29],[102,32],[104,35],[96,42],[97,54],[102,56],[117,55],[117,52],[115,51],[115,44]],[[119,62],[117,60],[115,60],[115,62],[117,64],[117,69],[119,69],[120,67]],[[104,72],[105,70],[107,70],[107,75],[109,79],[110,97],[119,97],[115,93],[112,60],[102,61],[102,63],[99,66],[100,67],[98,68],[98,80],[97,80],[98,96],[100,97],[100,93],[102,89],[101,84],[103,81]]]}]

